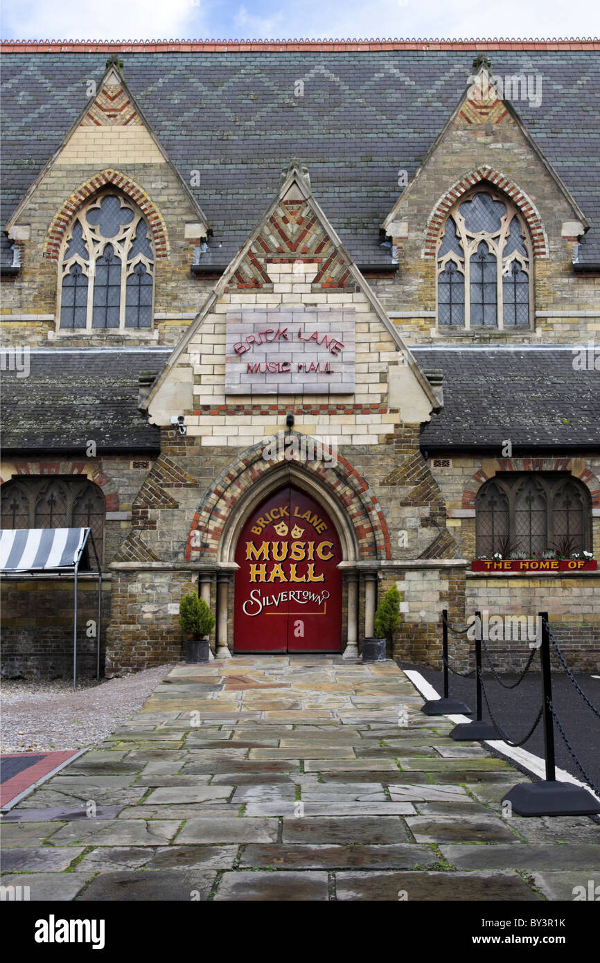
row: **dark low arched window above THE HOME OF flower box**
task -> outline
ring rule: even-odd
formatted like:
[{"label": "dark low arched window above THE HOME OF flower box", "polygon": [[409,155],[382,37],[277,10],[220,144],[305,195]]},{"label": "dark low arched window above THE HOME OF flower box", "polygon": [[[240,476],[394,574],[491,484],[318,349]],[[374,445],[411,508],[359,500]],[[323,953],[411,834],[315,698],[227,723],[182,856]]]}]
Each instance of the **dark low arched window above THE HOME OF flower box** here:
[{"label": "dark low arched window above THE HOME OF flower box", "polygon": [[510,472],[480,488],[475,502],[477,554],[503,558],[589,551],[591,504],[586,486],[561,472]]}]

